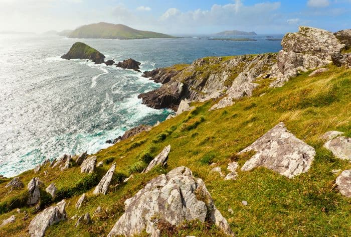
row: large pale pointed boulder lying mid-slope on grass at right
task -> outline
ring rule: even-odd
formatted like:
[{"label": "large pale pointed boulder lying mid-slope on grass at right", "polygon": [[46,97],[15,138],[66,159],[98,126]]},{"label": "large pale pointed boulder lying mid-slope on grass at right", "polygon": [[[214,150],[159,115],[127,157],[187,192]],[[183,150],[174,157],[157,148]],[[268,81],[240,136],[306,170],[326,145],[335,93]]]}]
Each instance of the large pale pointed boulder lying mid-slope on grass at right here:
[{"label": "large pale pointed boulder lying mid-slope on grass at right", "polygon": [[315,156],[313,147],[297,139],[279,123],[239,154],[255,151],[256,154],[245,162],[242,171],[263,166],[288,178],[309,170]]}]

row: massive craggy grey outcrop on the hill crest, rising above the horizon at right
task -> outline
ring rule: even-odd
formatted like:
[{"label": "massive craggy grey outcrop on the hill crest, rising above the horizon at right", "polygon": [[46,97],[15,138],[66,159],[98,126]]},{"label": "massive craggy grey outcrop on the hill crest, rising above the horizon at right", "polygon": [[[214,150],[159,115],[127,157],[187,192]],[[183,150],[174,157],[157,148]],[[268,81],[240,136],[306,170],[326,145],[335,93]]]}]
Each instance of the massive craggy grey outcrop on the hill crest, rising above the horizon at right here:
[{"label": "massive craggy grey outcrop on the hill crest, rising above the horizon at right", "polygon": [[345,48],[331,33],[312,27],[299,27],[299,32],[288,33],[278,53],[277,64],[272,67],[270,86],[280,87],[291,77],[297,76],[298,71],[307,71],[331,63],[334,55],[340,54]]}]

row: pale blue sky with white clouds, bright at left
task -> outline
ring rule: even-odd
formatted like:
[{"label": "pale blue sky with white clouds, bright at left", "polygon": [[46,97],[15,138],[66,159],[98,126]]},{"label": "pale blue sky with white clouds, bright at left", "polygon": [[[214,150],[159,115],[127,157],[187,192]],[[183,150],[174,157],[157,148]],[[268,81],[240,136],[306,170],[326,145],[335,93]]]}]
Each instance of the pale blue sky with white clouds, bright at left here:
[{"label": "pale blue sky with white clouds, bright at left", "polygon": [[46,32],[91,23],[166,34],[351,28],[351,0],[0,0],[0,31]]}]

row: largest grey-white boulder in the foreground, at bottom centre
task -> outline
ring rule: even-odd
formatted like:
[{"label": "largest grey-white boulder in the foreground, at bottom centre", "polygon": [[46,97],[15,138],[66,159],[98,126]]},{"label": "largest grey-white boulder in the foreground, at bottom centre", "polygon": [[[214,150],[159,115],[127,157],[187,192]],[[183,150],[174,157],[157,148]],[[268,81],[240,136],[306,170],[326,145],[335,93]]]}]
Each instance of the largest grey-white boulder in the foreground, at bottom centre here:
[{"label": "largest grey-white boulder in the foreground, at bottom centre", "polygon": [[[198,200],[198,196],[203,199]],[[192,171],[184,166],[152,179],[124,204],[125,212],[108,237],[123,234],[133,236],[144,229],[151,236],[159,236],[157,218],[179,225],[185,220],[205,221],[206,216],[210,216],[226,234],[234,236],[227,220],[216,208],[205,183],[200,178],[194,178]]]}]

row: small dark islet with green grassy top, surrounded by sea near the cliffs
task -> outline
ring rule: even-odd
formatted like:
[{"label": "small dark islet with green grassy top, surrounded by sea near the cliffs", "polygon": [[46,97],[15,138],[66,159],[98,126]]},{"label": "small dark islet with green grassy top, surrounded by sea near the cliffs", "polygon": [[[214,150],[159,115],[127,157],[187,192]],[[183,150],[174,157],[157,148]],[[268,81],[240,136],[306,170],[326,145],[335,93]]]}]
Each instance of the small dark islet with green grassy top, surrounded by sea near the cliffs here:
[{"label": "small dark islet with green grassy top, surrounded by sea near the cliffs", "polygon": [[64,59],[87,59],[92,60],[95,64],[104,63],[105,55],[96,49],[82,42],[76,42],[72,45],[67,54],[62,55]]}]

